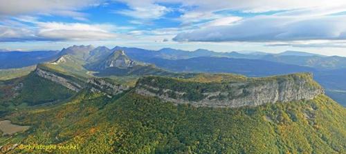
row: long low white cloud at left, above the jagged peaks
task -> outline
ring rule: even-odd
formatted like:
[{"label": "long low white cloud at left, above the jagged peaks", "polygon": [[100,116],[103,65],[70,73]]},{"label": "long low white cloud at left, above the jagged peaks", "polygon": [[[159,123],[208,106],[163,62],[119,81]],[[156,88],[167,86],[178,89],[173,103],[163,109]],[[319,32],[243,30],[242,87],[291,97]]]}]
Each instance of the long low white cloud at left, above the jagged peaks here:
[{"label": "long low white cloud at left, above the jagged peaks", "polygon": [[0,26],[0,41],[99,41],[115,39],[107,24],[37,22],[35,27]]}]

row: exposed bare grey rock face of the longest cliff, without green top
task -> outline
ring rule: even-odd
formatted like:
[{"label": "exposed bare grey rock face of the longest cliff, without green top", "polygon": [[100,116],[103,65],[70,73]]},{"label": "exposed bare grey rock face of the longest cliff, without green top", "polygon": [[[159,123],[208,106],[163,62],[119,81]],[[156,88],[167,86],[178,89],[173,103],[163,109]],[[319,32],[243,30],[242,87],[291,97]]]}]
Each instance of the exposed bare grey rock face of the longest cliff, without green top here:
[{"label": "exposed bare grey rock face of the longest cliff, without green top", "polygon": [[[228,84],[226,90],[213,91],[212,93],[202,93],[205,97],[200,101],[189,101],[184,99],[185,92],[174,91],[173,89],[162,89],[163,93],[153,93],[158,87],[138,83],[136,93],[159,97],[166,102],[175,104],[192,104],[193,106],[208,107],[229,107],[238,108],[242,106],[260,106],[262,104],[275,102],[294,102],[299,100],[313,99],[324,94],[324,90],[312,79],[312,75],[307,78],[278,77],[278,79],[259,79],[243,82],[224,83]],[[183,83],[182,83],[183,84]],[[153,84],[157,85],[157,83]],[[169,93],[175,93],[176,97],[170,97]],[[216,97],[221,96],[221,99]]]}]

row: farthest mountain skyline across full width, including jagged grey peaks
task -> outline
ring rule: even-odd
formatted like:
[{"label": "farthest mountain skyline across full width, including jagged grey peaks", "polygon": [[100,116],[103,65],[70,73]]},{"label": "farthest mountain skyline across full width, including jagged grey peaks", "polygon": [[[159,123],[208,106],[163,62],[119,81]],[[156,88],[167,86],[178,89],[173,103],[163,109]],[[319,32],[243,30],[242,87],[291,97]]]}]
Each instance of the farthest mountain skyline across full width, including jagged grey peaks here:
[{"label": "farthest mountain skyline across full width, including jagged grey peaks", "polygon": [[[176,50],[173,48],[162,48],[161,50],[145,50],[142,48],[127,48],[116,46],[109,49],[104,46],[71,46],[62,51],[34,51],[34,52],[1,52],[2,60],[0,68],[20,68],[30,66],[44,61],[60,57],[69,53],[83,61],[93,62],[97,59],[104,59],[115,50],[124,50],[126,54],[138,61],[149,61],[152,58],[158,59],[190,59],[194,57],[229,57],[240,59],[260,59],[264,61],[274,61],[284,64],[293,64],[298,66],[307,66],[318,70],[333,70],[346,68],[346,57],[324,56],[309,52],[285,51],[278,54],[257,52],[257,51],[239,51],[239,52],[214,52],[212,50],[197,49],[194,51]],[[13,61],[17,60],[17,61]],[[6,65],[7,64],[7,65]]]}]

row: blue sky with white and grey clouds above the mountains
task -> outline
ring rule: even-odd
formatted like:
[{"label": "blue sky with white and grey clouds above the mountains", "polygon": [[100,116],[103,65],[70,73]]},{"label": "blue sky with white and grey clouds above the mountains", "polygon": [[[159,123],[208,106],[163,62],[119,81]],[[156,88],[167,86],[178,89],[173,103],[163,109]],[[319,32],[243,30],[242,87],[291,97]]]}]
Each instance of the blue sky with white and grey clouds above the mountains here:
[{"label": "blue sky with white and grey clouds above the mountains", "polygon": [[82,44],[346,56],[346,1],[0,0],[0,50]]}]

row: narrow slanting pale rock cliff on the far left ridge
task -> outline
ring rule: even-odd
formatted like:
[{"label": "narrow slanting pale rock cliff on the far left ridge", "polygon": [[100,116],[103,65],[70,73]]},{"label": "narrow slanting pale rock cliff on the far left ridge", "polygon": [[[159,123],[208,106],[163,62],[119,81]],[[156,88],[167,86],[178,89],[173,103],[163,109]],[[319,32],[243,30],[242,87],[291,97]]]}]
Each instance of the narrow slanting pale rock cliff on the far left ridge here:
[{"label": "narrow slanting pale rock cliff on the far left ridge", "polygon": [[71,79],[67,79],[66,77],[61,77],[59,75],[56,75],[55,73],[51,73],[47,70],[43,70],[41,68],[36,68],[35,73],[39,75],[39,77],[43,77],[45,79],[51,80],[57,84],[60,84],[62,86],[65,86],[66,88],[69,88],[75,92],[80,91],[83,86],[76,83],[75,81]]}]

